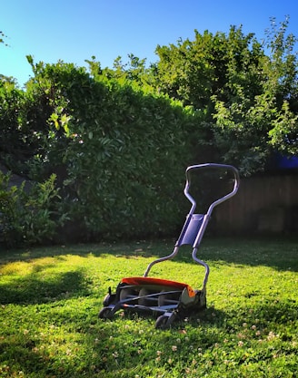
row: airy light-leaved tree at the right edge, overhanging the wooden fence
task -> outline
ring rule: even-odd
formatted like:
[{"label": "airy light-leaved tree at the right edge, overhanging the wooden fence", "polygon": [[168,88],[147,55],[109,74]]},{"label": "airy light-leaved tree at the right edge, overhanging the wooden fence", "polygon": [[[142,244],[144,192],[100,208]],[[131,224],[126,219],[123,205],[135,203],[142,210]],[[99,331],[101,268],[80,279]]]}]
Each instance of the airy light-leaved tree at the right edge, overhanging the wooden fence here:
[{"label": "airy light-leaved tree at the right edge, overhanging the wooden fence", "polygon": [[245,91],[236,82],[233,102],[214,98],[214,137],[224,160],[236,161],[245,174],[263,170],[273,151],[297,154],[296,38],[286,34],[288,19],[279,28],[272,20],[266,47],[256,66],[259,92]]}]

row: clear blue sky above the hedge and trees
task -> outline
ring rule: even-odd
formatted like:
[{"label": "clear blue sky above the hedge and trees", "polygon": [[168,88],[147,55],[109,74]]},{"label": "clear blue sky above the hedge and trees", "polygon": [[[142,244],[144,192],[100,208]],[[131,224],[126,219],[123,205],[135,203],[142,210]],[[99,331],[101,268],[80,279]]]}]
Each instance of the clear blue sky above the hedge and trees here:
[{"label": "clear blue sky above the hedge and trees", "polygon": [[194,40],[194,30],[228,34],[243,25],[259,41],[270,27],[290,16],[289,32],[298,36],[297,0],[0,0],[0,74],[22,86],[31,75],[26,55],[35,63],[84,66],[95,56],[104,67],[133,53],[158,61],[155,48]]}]

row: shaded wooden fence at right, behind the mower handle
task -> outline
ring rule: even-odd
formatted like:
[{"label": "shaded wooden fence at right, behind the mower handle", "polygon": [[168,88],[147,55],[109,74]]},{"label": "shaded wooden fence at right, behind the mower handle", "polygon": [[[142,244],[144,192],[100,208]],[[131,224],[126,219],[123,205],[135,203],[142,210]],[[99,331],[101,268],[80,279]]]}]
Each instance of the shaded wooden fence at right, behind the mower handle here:
[{"label": "shaded wooden fence at right, behind the mower handle", "polygon": [[214,217],[219,234],[297,232],[298,174],[242,179]]}]

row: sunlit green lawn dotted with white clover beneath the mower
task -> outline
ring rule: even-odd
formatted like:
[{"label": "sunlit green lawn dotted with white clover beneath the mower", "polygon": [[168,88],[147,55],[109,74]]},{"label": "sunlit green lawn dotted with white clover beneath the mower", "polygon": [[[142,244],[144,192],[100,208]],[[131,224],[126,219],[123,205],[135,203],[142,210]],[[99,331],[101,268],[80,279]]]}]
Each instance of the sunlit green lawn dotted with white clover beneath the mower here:
[{"label": "sunlit green lawn dotted with white clover beneath the mower", "polygon": [[[155,330],[152,316],[97,318],[109,286],[142,276],[172,241],[0,253],[1,377],[296,377],[297,240],[209,239],[208,308]],[[152,276],[202,284],[182,248]]]}]

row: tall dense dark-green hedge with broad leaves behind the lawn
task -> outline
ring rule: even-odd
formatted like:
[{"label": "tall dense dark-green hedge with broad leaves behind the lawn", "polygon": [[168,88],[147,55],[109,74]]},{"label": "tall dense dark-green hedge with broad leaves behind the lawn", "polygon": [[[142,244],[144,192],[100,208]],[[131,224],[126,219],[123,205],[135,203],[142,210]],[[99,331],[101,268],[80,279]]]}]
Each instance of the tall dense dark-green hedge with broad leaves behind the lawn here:
[{"label": "tall dense dark-green hedge with broad leaves behind the lawn", "polygon": [[20,124],[36,148],[24,166],[38,182],[56,175],[58,216],[69,218],[56,228],[56,241],[173,235],[180,228],[199,114],[66,63],[36,65],[25,96]]}]

